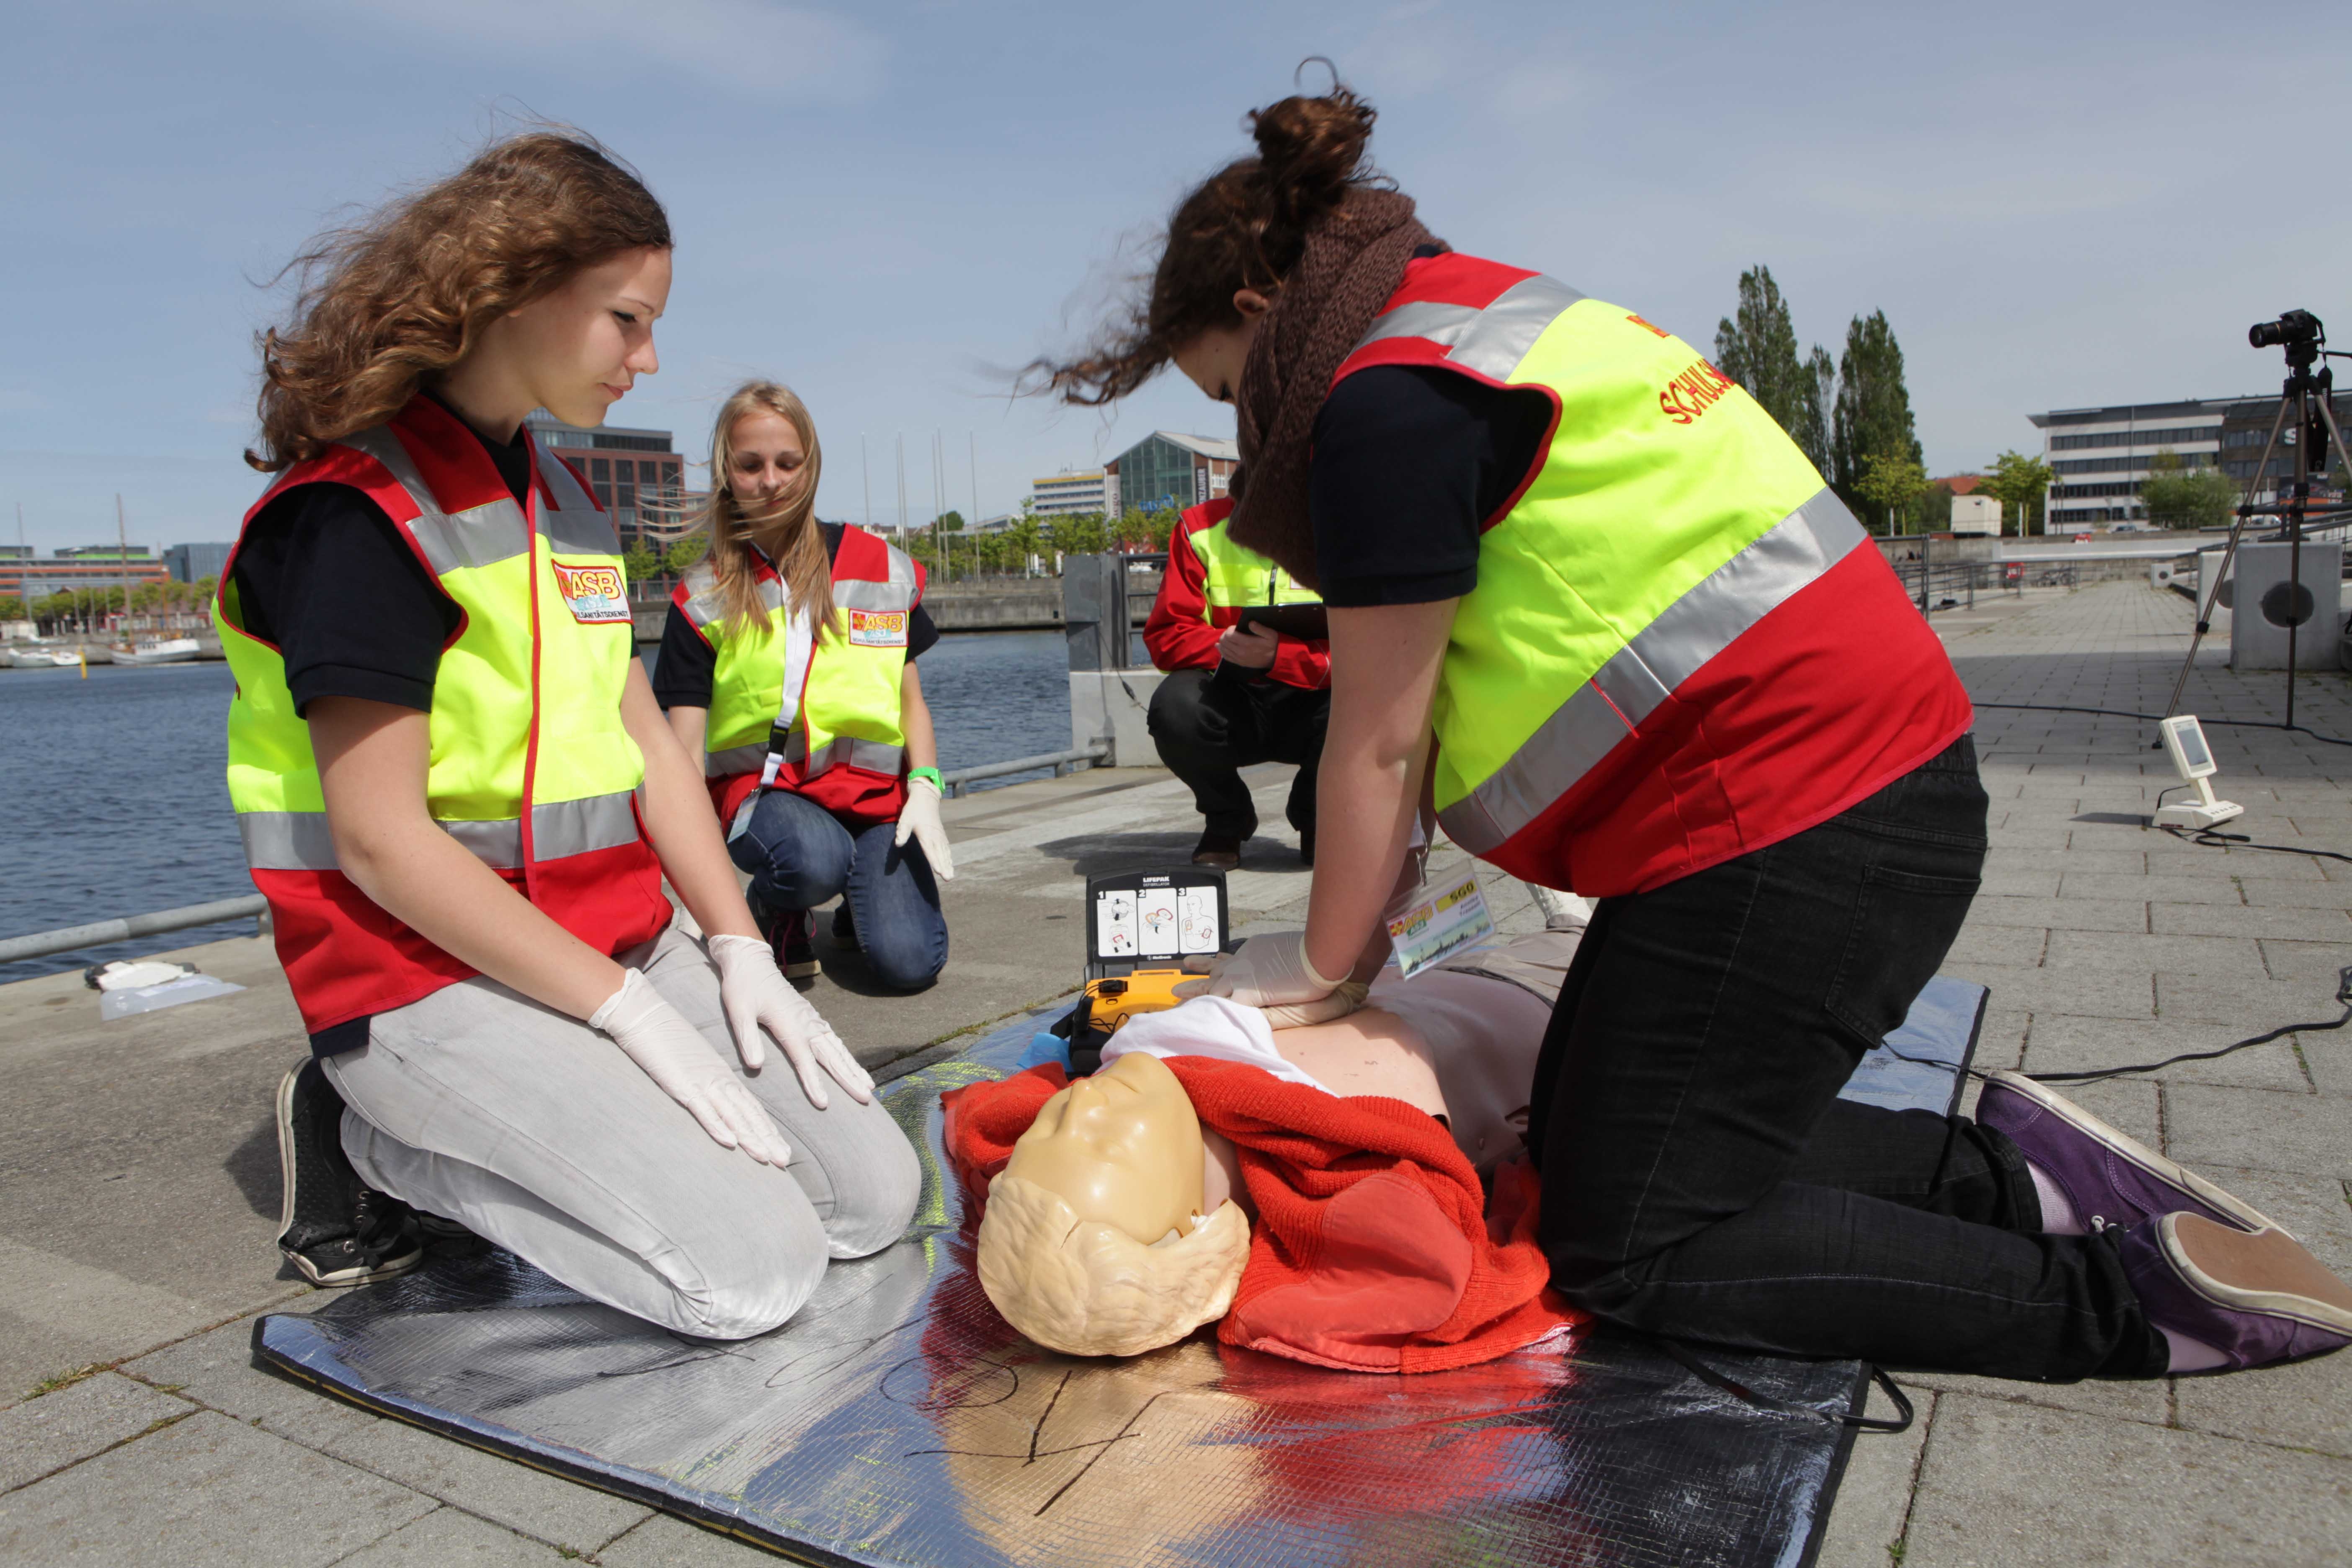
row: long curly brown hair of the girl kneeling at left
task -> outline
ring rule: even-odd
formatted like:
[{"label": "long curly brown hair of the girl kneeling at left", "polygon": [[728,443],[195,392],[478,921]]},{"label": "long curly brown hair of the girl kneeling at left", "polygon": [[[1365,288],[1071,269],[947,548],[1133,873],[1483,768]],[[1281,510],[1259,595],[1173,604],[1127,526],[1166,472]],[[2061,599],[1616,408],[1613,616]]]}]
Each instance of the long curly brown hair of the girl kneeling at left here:
[{"label": "long curly brown hair of the girl kneeling at left", "polygon": [[383,423],[456,364],[499,315],[630,249],[670,249],[661,202],[593,136],[541,129],[492,143],[294,259],[294,315],[261,334],[261,440],[280,473]]}]

